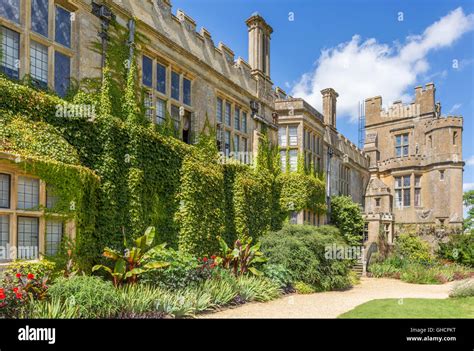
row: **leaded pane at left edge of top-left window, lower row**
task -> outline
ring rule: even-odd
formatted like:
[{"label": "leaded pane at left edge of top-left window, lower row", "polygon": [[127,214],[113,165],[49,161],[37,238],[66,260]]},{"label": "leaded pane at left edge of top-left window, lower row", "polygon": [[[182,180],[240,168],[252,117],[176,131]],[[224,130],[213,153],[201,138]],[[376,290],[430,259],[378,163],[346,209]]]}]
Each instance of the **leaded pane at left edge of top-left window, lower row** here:
[{"label": "leaded pane at left edge of top-left window, lower row", "polygon": [[20,34],[2,27],[2,55],[0,71],[12,79],[19,79]]}]

